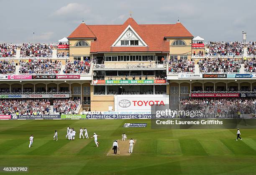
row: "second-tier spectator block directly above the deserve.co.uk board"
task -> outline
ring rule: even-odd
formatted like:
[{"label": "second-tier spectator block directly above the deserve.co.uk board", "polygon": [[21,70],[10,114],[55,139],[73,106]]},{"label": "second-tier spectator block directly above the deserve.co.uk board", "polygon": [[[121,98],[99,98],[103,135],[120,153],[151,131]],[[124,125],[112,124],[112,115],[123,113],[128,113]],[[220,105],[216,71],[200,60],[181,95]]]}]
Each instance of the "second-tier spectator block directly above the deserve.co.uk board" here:
[{"label": "second-tier spectator block directly above the deserve.co.uk board", "polygon": [[199,60],[200,72],[240,72],[241,64],[234,58],[208,58]]}]

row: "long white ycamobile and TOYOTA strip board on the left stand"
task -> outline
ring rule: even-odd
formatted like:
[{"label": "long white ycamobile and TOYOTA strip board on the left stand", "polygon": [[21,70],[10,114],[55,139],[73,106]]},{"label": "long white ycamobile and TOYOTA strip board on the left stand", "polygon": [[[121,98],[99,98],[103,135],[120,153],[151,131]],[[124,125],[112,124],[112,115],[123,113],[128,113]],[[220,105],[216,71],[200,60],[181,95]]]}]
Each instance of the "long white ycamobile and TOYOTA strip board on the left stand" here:
[{"label": "long white ycamobile and TOYOTA strip board on the left stand", "polygon": [[0,95],[0,98],[69,98],[69,94],[23,94]]}]

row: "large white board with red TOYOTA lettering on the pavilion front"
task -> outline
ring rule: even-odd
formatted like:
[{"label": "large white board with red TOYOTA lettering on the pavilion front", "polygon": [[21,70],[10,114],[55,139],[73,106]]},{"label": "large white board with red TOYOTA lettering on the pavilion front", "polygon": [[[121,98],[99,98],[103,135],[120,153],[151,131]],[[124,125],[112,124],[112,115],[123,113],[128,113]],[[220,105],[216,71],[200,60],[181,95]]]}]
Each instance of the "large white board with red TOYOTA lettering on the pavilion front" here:
[{"label": "large white board with red TOYOTA lettering on the pavilion front", "polygon": [[169,95],[115,95],[115,111],[150,111],[169,105]]}]

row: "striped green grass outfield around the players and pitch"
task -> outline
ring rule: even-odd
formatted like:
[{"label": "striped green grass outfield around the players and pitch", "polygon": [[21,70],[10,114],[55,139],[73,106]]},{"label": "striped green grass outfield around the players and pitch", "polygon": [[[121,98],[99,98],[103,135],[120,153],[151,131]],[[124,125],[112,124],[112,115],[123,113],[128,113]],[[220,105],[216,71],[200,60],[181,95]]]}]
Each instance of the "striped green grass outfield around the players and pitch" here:
[{"label": "striped green grass outfield around the players and pitch", "polygon": [[[125,122],[148,126],[123,128]],[[68,125],[77,131],[74,141],[65,139]],[[89,137],[101,135],[99,148],[93,139],[78,139],[80,127]],[[133,154],[107,156],[123,132],[137,140]],[[1,120],[0,166],[28,166],[35,175],[255,174],[256,129],[241,128],[241,137],[235,140],[235,129],[153,130],[150,120]]]}]

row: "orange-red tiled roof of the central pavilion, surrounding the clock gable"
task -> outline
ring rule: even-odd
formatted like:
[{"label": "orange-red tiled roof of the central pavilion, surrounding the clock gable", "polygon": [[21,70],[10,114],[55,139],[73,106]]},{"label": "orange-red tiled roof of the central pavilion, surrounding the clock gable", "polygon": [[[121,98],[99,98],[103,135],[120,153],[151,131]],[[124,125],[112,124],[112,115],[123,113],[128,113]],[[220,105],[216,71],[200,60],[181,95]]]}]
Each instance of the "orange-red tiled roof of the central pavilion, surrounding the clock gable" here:
[{"label": "orange-red tiled roof of the central pavilion, surrounding the clock gable", "polygon": [[[136,21],[133,20],[133,18],[128,18],[128,20],[126,20],[123,25],[81,25],[79,25],[78,28],[74,30],[71,35],[69,35],[68,38],[88,38],[92,36],[96,37],[97,39],[91,42],[90,52],[92,53],[169,52],[169,41],[166,41],[164,37],[193,37],[181,23],[138,25]],[[128,25],[131,25],[131,27],[137,32],[141,39],[146,42],[148,46],[111,46]]]}]

